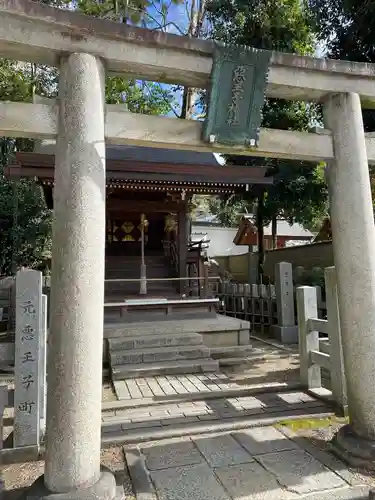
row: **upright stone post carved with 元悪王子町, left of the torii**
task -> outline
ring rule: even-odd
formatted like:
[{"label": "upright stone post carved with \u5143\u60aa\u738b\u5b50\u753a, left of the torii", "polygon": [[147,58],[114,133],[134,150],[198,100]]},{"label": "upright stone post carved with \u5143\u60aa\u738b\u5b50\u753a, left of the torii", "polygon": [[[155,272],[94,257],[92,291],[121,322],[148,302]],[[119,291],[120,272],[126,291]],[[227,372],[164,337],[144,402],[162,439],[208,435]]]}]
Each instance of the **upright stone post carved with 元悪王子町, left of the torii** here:
[{"label": "upright stone post carved with \u5143\u60aa\u738b\u5b50\u753a, left of the torii", "polygon": [[40,332],[42,273],[18,271],[16,277],[16,347],[14,446],[39,445]]}]

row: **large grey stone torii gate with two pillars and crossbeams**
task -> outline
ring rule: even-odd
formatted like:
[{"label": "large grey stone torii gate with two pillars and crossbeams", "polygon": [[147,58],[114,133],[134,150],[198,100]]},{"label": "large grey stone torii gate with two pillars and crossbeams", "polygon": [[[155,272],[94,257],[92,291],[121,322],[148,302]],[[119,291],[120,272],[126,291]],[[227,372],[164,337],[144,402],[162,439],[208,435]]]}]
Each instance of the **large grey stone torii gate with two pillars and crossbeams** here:
[{"label": "large grey stone torii gate with two pillars and crossbeams", "polygon": [[[0,0],[0,56],[60,69],[57,102],[0,103],[3,136],[56,139],[45,474],[36,498],[113,499],[100,468],[105,141],[328,163],[350,425],[336,449],[374,465],[375,228],[368,163],[375,66],[272,53],[266,95],[324,103],[327,129],[261,129],[255,142],[203,141],[202,123],[105,106],[105,72],[207,88],[214,45],[39,5]],[[207,137],[206,137],[207,139]]]}]

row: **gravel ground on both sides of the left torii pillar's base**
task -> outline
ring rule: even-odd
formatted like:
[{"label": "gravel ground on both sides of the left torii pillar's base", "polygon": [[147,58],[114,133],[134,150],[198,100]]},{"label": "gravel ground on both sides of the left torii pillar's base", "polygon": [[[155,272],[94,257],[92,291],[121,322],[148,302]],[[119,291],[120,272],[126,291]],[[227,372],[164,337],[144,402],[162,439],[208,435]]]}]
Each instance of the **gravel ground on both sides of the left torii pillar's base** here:
[{"label": "gravel ground on both sides of the left torii pillar's base", "polygon": [[[115,474],[117,484],[123,485],[125,500],[135,500],[122,448],[115,447],[102,450],[101,463]],[[30,486],[41,474],[43,474],[43,471],[43,461],[7,465],[3,467],[2,479],[5,482],[5,493],[2,500],[14,500],[17,498],[20,490]]]}]

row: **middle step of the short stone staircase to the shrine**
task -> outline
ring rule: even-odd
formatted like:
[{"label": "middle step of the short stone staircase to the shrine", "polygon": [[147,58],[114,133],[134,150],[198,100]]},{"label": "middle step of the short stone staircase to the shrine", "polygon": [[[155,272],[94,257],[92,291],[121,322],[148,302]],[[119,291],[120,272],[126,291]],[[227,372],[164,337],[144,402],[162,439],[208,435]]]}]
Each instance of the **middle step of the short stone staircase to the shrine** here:
[{"label": "middle step of the short stone staircase to the shrine", "polygon": [[157,363],[159,361],[178,361],[185,359],[209,358],[210,349],[200,346],[151,347],[149,349],[124,349],[109,352],[111,366]]}]

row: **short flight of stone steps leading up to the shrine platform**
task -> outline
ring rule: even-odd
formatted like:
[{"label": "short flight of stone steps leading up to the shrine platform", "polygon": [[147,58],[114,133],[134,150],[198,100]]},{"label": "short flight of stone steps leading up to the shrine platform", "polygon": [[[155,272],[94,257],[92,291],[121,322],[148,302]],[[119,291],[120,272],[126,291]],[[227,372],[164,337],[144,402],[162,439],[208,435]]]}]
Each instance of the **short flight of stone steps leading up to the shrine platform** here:
[{"label": "short flight of stone steps leading up to the shrine platform", "polygon": [[108,339],[112,380],[218,371],[197,333],[124,335]]}]

